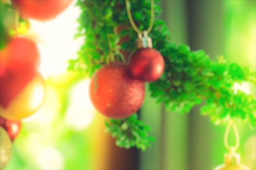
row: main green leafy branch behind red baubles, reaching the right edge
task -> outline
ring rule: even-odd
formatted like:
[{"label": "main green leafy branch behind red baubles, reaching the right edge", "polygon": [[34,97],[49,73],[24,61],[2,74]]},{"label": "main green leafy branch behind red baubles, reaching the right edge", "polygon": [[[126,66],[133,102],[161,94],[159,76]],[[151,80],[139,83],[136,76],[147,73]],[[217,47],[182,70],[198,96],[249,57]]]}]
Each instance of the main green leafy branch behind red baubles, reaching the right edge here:
[{"label": "main green leafy branch behind red baubles, reaching the right edge", "polygon": [[[158,0],[155,2],[158,3]],[[85,37],[85,40],[78,58],[70,61],[71,69],[92,76],[106,64],[110,51],[107,35],[114,37],[114,27],[123,27],[119,37],[129,37],[127,42],[120,44],[120,48],[129,51],[136,49],[137,34],[130,25],[125,0],[78,0],[77,5],[81,15],[76,37]],[[138,28],[146,30],[150,23],[150,0],[130,0],[130,7]],[[156,16],[161,13],[158,5],[155,5],[155,13]],[[195,105],[202,104],[201,113],[209,115],[216,122],[239,118],[249,121],[252,126],[256,125],[255,97],[233,89],[236,83],[244,81],[256,85],[254,71],[226,63],[223,57],[212,60],[202,50],[192,51],[187,45],[172,43],[171,35],[161,19],[155,19],[149,36],[153,39],[154,48],[162,53],[166,65],[161,78],[150,84],[151,96],[157,98],[158,102],[163,102],[168,110],[180,113],[188,113]],[[114,45],[114,39],[111,42]],[[115,129],[119,127],[121,131],[122,124],[128,120],[114,123]],[[133,144],[121,142],[121,136],[114,136],[117,137],[118,146]]]}]

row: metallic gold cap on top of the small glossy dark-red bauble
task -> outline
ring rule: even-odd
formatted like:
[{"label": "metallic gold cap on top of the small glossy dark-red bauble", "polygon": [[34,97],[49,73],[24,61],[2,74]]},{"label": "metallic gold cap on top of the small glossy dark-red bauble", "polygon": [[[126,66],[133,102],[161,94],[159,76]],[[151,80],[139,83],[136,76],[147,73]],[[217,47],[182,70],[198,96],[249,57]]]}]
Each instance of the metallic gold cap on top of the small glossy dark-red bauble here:
[{"label": "metallic gold cap on top of the small glossy dark-red bauble", "polygon": [[152,39],[151,39],[151,37],[148,36],[147,31],[143,31],[143,34],[138,33],[138,38],[136,39],[136,44],[137,44],[138,49],[142,49],[142,48],[152,49],[153,48]]}]

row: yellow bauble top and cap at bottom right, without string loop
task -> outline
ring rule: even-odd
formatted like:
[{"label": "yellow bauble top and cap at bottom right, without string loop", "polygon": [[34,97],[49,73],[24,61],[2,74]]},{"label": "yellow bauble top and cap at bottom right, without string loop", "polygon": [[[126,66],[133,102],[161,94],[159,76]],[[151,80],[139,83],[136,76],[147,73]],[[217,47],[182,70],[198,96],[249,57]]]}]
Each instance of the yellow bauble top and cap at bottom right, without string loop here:
[{"label": "yellow bauble top and cap at bottom right, without string loop", "polygon": [[236,153],[235,147],[230,147],[229,153],[224,154],[224,164],[217,166],[214,170],[251,170],[240,163],[240,154]]}]

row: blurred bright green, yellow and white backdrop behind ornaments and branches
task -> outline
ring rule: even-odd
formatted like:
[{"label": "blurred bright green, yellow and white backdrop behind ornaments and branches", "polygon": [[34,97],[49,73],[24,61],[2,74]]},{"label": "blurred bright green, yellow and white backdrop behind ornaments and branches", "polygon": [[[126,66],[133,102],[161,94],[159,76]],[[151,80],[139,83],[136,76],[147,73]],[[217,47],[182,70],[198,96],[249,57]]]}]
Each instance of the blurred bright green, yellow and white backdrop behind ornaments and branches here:
[{"label": "blurred bright green, yellow and white backdrop behind ornaments and branches", "polygon": [[[255,0],[162,0],[161,6],[173,42],[256,70]],[[78,17],[73,3],[54,20],[31,20],[47,99],[38,113],[24,119],[6,170],[211,170],[222,164],[227,122],[215,125],[198,107],[190,114],[167,112],[149,94],[140,115],[156,142],[145,152],[115,146],[104,133],[105,118],[89,100],[90,80],[66,70],[83,42],[73,38]],[[248,84],[237,88],[256,92]],[[239,120],[236,124],[241,161],[256,170],[256,129]]]}]

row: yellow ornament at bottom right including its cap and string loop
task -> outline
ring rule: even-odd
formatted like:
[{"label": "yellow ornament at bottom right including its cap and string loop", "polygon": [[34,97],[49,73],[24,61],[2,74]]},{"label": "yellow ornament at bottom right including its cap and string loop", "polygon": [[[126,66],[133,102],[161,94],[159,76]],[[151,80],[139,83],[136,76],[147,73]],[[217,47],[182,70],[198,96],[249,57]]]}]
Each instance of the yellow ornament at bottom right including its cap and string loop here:
[{"label": "yellow ornament at bottom right including its cap and string loop", "polygon": [[[236,145],[231,147],[228,145],[228,134],[230,132],[231,125],[236,135]],[[249,167],[240,163],[240,154],[236,153],[236,149],[239,146],[239,134],[233,120],[229,121],[225,136],[224,136],[225,147],[229,150],[229,153],[224,154],[224,164],[217,166],[214,170],[251,170]]]}]

